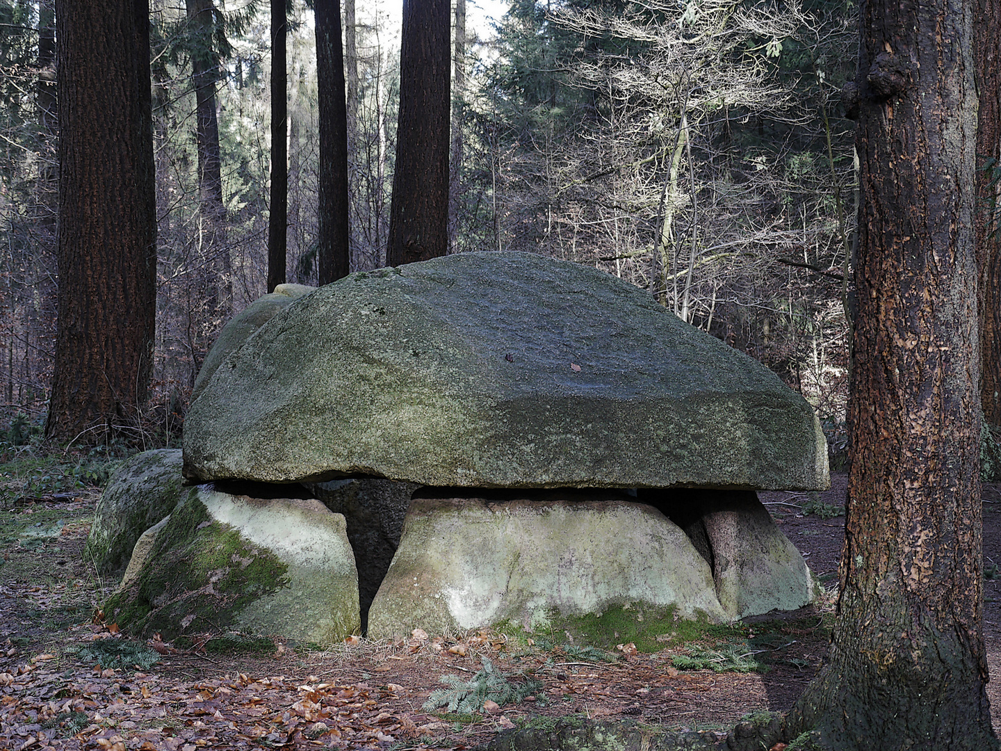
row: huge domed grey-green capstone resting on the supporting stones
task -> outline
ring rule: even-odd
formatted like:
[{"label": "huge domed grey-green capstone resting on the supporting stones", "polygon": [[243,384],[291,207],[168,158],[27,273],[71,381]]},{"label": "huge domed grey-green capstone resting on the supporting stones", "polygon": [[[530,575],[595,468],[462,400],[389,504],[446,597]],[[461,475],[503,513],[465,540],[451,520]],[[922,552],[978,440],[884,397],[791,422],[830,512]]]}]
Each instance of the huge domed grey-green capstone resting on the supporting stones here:
[{"label": "huge domed grey-green capstone resting on the supporting stones", "polygon": [[642,290],[530,253],[354,273],[277,312],[192,405],[194,482],[822,489],[764,365]]}]

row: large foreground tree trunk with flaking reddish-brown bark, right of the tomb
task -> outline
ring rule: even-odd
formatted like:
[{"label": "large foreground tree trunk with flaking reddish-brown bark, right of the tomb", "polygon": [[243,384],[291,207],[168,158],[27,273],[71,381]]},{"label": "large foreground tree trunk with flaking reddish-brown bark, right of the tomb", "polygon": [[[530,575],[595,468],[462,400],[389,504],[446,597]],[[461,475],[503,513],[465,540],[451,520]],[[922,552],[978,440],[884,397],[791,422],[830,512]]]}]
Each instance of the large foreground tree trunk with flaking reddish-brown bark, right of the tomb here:
[{"label": "large foreground tree trunk with flaking reddish-brown bark, right of the tomb", "polygon": [[796,730],[989,749],[970,0],[862,6],[862,208],[841,593]]}]

